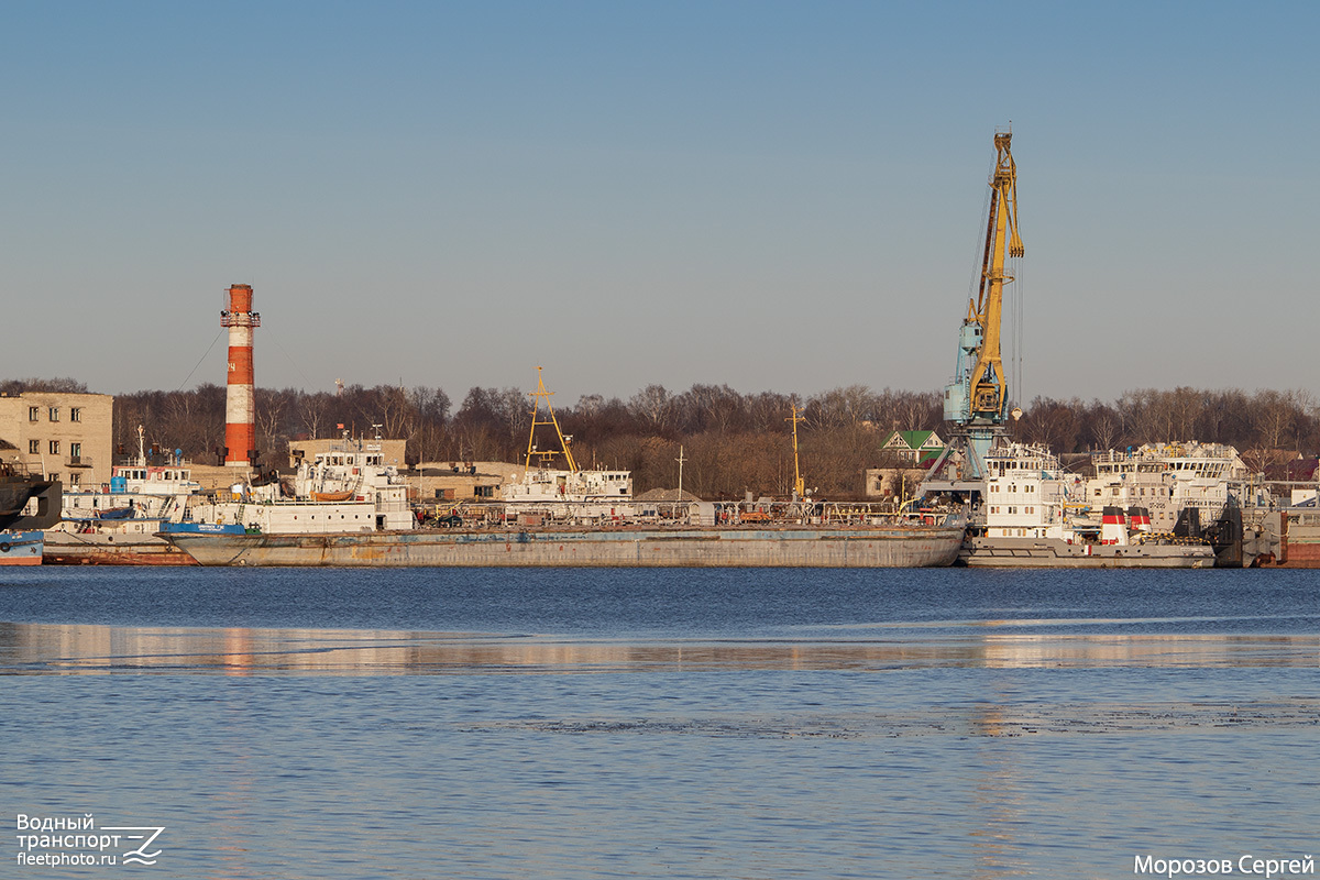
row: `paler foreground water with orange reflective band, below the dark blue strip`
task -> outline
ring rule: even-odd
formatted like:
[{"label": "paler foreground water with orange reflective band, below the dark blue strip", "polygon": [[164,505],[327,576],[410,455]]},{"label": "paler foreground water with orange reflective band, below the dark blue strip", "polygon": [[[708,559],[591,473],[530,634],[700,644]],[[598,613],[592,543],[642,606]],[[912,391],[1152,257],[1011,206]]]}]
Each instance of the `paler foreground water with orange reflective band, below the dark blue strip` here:
[{"label": "paler foreground water with orange reflective band, below the dark blue strip", "polygon": [[0,738],[18,809],[223,880],[1119,876],[1313,830],[1317,636],[832,635],[0,624]]}]

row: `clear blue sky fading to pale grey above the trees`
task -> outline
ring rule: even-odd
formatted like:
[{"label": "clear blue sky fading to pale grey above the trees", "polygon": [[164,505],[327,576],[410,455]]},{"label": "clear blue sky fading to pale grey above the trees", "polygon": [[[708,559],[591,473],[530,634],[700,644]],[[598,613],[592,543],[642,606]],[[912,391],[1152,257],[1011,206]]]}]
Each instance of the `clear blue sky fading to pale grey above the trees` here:
[{"label": "clear blue sky fading to pale grey above the trees", "polygon": [[[7,3],[0,373],[936,389],[1014,131],[1022,394],[1315,388],[1313,3]],[[210,355],[203,352],[215,342]],[[193,372],[201,359],[201,365]]]}]

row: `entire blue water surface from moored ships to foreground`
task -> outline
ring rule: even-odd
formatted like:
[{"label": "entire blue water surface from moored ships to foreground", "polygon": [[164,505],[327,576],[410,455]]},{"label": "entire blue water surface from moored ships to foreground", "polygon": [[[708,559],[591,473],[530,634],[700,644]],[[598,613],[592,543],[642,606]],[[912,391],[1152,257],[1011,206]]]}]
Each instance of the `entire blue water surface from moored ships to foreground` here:
[{"label": "entire blue water surface from moored ships to foreground", "polygon": [[[1119,877],[1316,854],[1304,571],[0,573],[0,877]],[[34,850],[34,852],[41,850]]]}]

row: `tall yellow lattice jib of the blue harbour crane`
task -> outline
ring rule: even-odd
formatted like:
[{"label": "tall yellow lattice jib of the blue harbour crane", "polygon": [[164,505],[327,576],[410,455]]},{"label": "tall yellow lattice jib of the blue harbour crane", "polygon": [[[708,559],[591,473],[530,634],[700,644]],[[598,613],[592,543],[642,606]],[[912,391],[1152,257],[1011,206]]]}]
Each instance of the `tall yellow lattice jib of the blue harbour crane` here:
[{"label": "tall yellow lattice jib of the blue harbour crane", "polygon": [[[1011,132],[994,136],[995,168],[990,177],[994,195],[986,224],[986,248],[981,260],[981,289],[975,301],[968,303],[968,323],[978,323],[983,331],[977,365],[972,371],[970,416],[1003,421],[1008,401],[1008,377],[999,356],[999,318],[1003,311],[1003,285],[1012,276],[1003,272],[1005,256],[1020,257],[1022,239],[1018,237],[1018,166],[1008,145]],[[1007,239],[1007,247],[1005,247]]]}]

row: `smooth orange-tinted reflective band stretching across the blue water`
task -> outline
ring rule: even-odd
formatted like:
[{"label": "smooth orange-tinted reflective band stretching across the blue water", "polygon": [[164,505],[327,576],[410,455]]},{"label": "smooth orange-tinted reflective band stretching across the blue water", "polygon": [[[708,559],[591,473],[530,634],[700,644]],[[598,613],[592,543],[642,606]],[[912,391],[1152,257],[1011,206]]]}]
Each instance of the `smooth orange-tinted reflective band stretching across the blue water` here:
[{"label": "smooth orange-tinted reflective band stretching across the blue water", "polygon": [[0,624],[0,674],[125,672],[591,673],[919,668],[1320,665],[1320,636],[1040,635],[776,640],[557,640],[507,633]]}]

